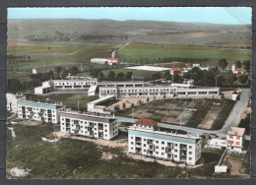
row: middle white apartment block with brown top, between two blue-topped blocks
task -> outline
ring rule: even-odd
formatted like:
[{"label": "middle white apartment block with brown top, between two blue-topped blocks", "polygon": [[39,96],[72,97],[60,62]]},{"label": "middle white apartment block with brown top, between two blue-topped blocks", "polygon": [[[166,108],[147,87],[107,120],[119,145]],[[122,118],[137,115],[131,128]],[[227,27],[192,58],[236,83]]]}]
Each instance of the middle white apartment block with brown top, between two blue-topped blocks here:
[{"label": "middle white apartment block with brown top, between two blue-topped blocks", "polygon": [[113,117],[61,112],[60,131],[90,138],[111,140],[118,135],[118,123]]}]

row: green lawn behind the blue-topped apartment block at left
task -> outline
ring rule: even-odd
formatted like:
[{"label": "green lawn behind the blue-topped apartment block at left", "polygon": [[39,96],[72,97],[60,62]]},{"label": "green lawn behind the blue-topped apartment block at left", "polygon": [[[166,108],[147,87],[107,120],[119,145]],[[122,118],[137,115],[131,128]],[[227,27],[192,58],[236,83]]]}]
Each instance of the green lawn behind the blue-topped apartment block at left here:
[{"label": "green lawn behind the blue-topped apartment block at left", "polygon": [[81,111],[87,110],[87,103],[93,100],[96,100],[97,96],[88,96],[86,94],[74,94],[74,93],[66,93],[66,94],[49,94],[47,96],[44,95],[31,95],[32,100],[39,100],[41,102],[45,102],[46,98],[48,98],[48,102],[62,102],[62,104],[67,105],[67,108],[72,108],[73,110],[78,109],[78,100],[79,100],[79,109]]}]

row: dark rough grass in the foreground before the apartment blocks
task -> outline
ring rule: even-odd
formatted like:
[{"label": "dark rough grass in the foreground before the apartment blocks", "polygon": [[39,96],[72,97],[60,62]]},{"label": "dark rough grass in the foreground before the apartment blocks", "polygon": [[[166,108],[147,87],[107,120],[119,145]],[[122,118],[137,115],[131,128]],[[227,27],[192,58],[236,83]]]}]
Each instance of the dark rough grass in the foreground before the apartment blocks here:
[{"label": "dark rough grass in the foreground before the apartment blocks", "polygon": [[[91,142],[62,139],[56,144],[45,143],[41,137],[51,137],[53,126],[13,126],[16,137],[7,131],[7,177],[10,169],[31,169],[28,178],[214,178],[214,166],[222,151],[204,150],[205,165],[196,169],[167,167],[157,162],[128,158],[119,148],[97,149]],[[103,160],[102,153],[117,157]],[[184,173],[185,172],[185,173]],[[222,177],[228,177],[224,175]]]}]

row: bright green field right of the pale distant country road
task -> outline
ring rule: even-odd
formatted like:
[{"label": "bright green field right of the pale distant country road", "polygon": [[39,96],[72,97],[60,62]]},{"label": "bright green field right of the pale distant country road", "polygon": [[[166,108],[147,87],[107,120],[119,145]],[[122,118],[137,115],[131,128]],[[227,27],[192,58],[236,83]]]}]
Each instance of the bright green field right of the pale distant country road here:
[{"label": "bright green field right of the pale distant country road", "polygon": [[251,51],[248,49],[227,49],[207,46],[130,43],[127,47],[120,50],[117,55],[124,61],[134,63],[138,63],[140,58],[180,57],[211,58],[209,64],[217,65],[221,58],[225,58],[230,66],[235,60],[250,60]]}]

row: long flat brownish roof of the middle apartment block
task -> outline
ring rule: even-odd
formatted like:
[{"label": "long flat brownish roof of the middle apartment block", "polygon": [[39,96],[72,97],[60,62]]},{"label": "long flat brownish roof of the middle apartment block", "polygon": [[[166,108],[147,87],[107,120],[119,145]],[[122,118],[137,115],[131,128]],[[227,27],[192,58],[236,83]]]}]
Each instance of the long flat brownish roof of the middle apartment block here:
[{"label": "long flat brownish roof of the middle apartment block", "polygon": [[75,119],[83,119],[88,121],[96,121],[102,123],[112,123],[115,121],[115,118],[112,117],[103,117],[103,116],[96,116],[96,115],[89,115],[89,114],[79,114],[74,112],[60,112],[60,117],[68,117],[68,118],[75,118]]}]

